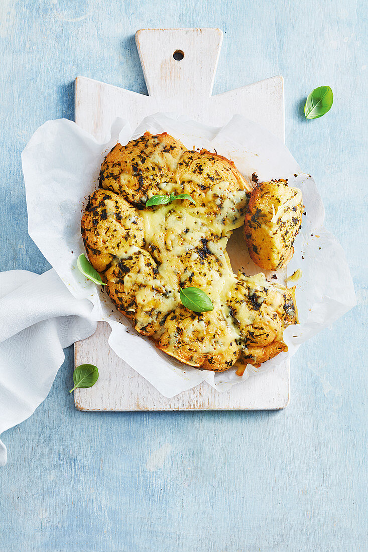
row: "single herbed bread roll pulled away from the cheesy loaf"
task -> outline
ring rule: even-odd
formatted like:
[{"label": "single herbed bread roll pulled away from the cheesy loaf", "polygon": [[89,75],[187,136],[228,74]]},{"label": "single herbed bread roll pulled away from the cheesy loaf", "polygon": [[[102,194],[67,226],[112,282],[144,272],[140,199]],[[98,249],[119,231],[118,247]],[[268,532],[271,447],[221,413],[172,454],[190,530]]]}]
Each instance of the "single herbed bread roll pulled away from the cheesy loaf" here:
[{"label": "single herbed bread roll pulled away from the cheesy loaf", "polygon": [[260,268],[278,270],[293,256],[302,224],[302,192],[285,180],[261,182],[250,195],[244,236],[250,258]]}]

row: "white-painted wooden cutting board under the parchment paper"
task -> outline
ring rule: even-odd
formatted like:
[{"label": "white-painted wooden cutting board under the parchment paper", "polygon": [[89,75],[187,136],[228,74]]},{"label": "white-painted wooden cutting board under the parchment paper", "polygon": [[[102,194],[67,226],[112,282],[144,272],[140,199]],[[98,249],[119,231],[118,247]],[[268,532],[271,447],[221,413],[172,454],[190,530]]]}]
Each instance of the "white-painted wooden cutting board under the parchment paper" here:
[{"label": "white-painted wooden cutting board under the parchment paper", "polygon": [[[240,113],[285,141],[282,77],[211,95],[222,31],[141,29],[135,40],[149,96],[76,78],[75,121],[97,140],[108,135],[117,116],[128,118],[134,129],[147,115],[176,111],[213,126],[222,126]],[[182,59],[175,59],[174,52]],[[245,73],[241,60],[239,71]],[[288,362],[228,392],[219,393],[204,382],[166,399],[109,348],[109,333],[108,324],[100,322],[93,336],[75,344],[75,365],[96,364],[100,374],[92,388],[75,391],[79,410],[271,410],[288,404]]]}]

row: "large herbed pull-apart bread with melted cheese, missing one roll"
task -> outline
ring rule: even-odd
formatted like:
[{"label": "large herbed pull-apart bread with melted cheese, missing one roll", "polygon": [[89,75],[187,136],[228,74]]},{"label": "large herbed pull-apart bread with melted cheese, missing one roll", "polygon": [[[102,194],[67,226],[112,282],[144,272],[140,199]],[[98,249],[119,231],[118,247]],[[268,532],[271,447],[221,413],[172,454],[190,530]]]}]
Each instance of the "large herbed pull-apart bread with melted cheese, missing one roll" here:
[{"label": "large herbed pull-apart bread with melted cheese, missing one roll", "polygon": [[[226,158],[188,151],[166,134],[146,132],[106,156],[100,189],[88,201],[82,235],[114,305],[156,346],[194,367],[258,367],[286,349],[297,323],[295,288],[260,273],[234,274],[226,251],[244,224],[252,185]],[[146,207],[153,195],[189,194]],[[180,289],[203,290],[213,310],[182,305]]]}]

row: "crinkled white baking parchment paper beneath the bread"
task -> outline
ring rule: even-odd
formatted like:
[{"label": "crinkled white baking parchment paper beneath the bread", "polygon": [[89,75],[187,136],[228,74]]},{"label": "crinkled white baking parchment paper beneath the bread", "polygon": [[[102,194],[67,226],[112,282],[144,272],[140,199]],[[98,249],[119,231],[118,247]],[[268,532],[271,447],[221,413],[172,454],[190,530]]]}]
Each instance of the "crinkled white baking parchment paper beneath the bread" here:
[{"label": "crinkled white baking parchment paper beneath the bread", "polygon": [[[263,363],[248,365],[243,376],[236,368],[222,373],[189,367],[156,349],[148,338],[135,332],[130,322],[115,310],[102,286],[87,280],[77,269],[77,258],[85,253],[81,217],[88,196],[97,188],[101,163],[116,144],[127,144],[146,130],[168,132],[188,148],[215,150],[235,162],[246,178],[256,173],[259,181],[287,178],[289,185],[302,190],[302,229],[295,240],[295,254],[288,275],[302,270],[296,283],[299,325],[286,328],[283,339],[288,352]],[[109,345],[132,368],[144,376],[162,395],[172,397],[206,380],[218,391],[227,391],[250,375],[275,369],[298,347],[351,309],[354,286],[341,246],[323,226],[324,208],[316,184],[304,174],[287,147],[269,131],[240,115],[223,128],[188,120],[178,114],[157,113],[142,121],[135,131],[127,120],[117,119],[111,136],[99,144],[90,134],[67,119],[48,121],[31,137],[22,153],[30,237],[77,299],[92,301],[94,320],[112,328]],[[261,270],[249,258],[242,236],[236,230],[228,252],[234,272]],[[265,272],[267,277],[272,273]],[[282,275],[278,275],[282,282]]]}]

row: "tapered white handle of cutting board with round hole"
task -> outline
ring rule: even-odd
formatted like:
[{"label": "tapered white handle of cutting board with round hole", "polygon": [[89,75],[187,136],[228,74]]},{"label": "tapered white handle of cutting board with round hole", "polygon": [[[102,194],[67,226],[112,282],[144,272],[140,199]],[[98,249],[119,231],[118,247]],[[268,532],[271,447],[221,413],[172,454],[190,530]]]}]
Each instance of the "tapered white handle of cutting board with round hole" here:
[{"label": "tapered white handle of cutting board with round hole", "polygon": [[211,96],[222,39],[220,29],[136,31],[149,95],[160,100]]}]

